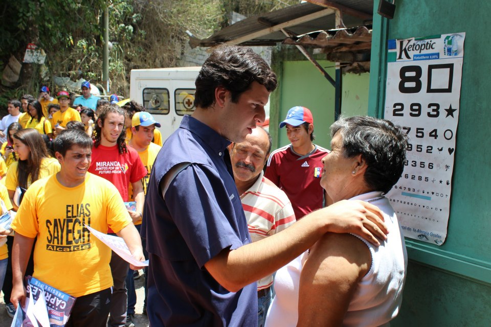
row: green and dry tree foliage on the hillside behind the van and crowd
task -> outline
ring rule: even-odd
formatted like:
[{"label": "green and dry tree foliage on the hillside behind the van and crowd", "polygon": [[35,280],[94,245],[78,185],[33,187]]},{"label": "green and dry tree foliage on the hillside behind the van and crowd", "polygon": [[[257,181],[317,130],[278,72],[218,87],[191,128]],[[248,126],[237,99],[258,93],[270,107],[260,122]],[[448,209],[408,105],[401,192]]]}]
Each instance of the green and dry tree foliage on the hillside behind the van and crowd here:
[{"label": "green and dry tree foliage on the hillside behind the van and crowd", "polygon": [[[7,0],[0,5],[0,67],[11,55],[21,61],[27,43],[47,53],[44,66],[23,65],[16,91],[37,94],[53,76],[102,80],[103,13],[109,13],[109,78],[127,94],[133,68],[172,67],[188,41],[186,31],[208,37],[225,27],[231,11],[245,16],[298,0]],[[31,67],[30,74],[25,71]],[[3,91],[5,93],[5,90]]]}]

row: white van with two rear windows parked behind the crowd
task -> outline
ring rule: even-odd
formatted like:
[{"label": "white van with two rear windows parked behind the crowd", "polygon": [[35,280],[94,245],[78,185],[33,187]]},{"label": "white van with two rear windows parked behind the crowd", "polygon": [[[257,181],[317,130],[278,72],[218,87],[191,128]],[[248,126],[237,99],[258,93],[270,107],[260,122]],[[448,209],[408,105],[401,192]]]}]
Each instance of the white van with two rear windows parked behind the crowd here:
[{"label": "white van with two rear windows parked behind the crowd", "polygon": [[162,124],[162,140],[181,124],[194,107],[194,81],[200,66],[179,68],[131,69],[129,98],[150,112]]}]

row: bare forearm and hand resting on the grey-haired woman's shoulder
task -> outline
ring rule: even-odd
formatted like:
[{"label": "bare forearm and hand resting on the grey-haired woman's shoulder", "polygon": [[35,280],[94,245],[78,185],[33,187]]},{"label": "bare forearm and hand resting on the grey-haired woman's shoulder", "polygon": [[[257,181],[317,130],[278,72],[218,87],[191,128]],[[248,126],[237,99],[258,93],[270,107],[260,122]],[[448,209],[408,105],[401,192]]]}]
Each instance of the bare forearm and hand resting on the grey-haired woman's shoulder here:
[{"label": "bare forearm and hand resting on the grey-haired woman's shoulder", "polygon": [[[368,209],[376,211],[377,215]],[[374,227],[367,217],[380,223],[382,214],[370,203],[337,202],[310,213],[278,234],[235,250],[225,249],[208,261],[205,268],[220,285],[236,292],[295,259],[327,231],[351,232],[378,243],[372,234],[383,237],[380,229],[387,233],[387,228]]]}]

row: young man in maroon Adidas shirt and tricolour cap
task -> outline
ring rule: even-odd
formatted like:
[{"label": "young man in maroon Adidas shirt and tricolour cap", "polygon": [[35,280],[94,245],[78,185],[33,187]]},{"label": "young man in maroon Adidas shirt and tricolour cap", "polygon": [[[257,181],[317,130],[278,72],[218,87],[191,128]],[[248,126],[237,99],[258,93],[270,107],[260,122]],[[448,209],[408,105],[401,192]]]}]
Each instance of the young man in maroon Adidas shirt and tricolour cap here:
[{"label": "young man in maroon Adidas shirt and tricolour cap", "polygon": [[330,204],[320,184],[321,160],[329,151],[312,143],[314,118],[307,108],[297,106],[288,110],[286,119],[280,123],[280,128],[285,126],[291,144],[271,153],[264,177],[286,193],[298,220]]}]

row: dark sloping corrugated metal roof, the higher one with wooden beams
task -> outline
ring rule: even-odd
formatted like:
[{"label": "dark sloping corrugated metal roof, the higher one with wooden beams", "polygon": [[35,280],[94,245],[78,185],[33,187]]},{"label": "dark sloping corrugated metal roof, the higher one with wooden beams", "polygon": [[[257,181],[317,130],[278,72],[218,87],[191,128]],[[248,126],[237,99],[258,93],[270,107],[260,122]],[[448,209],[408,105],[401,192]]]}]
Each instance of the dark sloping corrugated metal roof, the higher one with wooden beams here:
[{"label": "dark sloping corrugated metal roof, the higher one with wooden beams", "polygon": [[[373,1],[371,0],[338,0],[331,1],[331,3],[354,9],[362,13],[362,16],[365,17],[372,16]],[[274,45],[277,42],[282,42],[285,39],[285,35],[281,31],[268,32],[264,31],[265,29],[280,24],[288,25],[288,22],[292,20],[301,20],[302,17],[316,14],[324,10],[326,10],[326,7],[308,2],[302,3],[269,13],[245,18],[216,32],[206,39],[190,37],[189,43],[193,48],[196,46],[215,46],[217,44],[243,37],[247,40],[240,42],[239,44],[241,45]],[[327,11],[325,13],[327,13]],[[343,22],[346,27],[361,26],[367,23],[366,19],[347,13],[343,14]],[[368,22],[371,23],[371,21]],[[313,31],[329,30],[333,28],[336,28],[336,15],[332,11],[332,13],[326,14],[322,17],[299,22],[299,24],[292,26],[287,26],[285,29],[296,35],[303,35]],[[264,33],[258,33],[260,31],[263,31]],[[261,35],[254,36],[255,33]],[[248,36],[253,37],[248,39]]]}]

